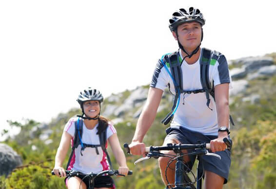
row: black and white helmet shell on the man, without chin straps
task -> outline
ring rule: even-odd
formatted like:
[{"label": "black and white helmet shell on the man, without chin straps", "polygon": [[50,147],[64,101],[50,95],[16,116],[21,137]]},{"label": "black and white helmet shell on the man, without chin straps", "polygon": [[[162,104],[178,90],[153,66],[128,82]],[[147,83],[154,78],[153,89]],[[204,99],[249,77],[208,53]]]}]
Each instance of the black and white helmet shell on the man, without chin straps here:
[{"label": "black and white helmet shell on the man, without chin straps", "polygon": [[194,7],[190,7],[189,11],[181,8],[178,11],[173,13],[173,17],[169,20],[169,28],[171,31],[176,31],[178,25],[186,22],[197,21],[202,25],[205,24],[205,19],[200,13],[200,10]]}]

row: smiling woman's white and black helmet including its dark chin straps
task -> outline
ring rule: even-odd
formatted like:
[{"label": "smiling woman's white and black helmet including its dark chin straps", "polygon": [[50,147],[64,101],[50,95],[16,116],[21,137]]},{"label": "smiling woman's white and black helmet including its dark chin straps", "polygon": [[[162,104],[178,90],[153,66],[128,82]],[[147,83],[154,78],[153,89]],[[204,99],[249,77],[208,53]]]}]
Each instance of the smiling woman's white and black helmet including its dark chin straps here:
[{"label": "smiling woman's white and black helmet including its dark chin straps", "polygon": [[83,116],[84,115],[84,111],[83,111],[83,103],[84,102],[86,102],[86,101],[99,101],[99,105],[100,105],[101,102],[103,102],[103,96],[99,92],[99,90],[88,87],[87,89],[84,89],[83,91],[80,91],[77,101],[78,101],[78,103],[81,107],[81,110],[82,110],[82,115],[81,116],[78,115],[78,117],[81,117],[83,119],[88,119],[88,120],[96,120],[96,119],[99,118],[99,115],[97,115],[94,118],[90,118],[86,115],[85,115],[85,117]]}]

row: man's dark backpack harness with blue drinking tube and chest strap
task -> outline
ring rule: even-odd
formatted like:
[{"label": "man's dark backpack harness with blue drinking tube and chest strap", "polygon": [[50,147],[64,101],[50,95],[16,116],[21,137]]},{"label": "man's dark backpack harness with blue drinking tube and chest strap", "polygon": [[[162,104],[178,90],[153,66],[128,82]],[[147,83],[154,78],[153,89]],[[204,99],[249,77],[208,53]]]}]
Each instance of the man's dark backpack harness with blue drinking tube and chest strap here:
[{"label": "man's dark backpack harness with blue drinking tube and chest strap", "polygon": [[[212,53],[211,50],[202,48],[202,53],[199,58],[199,64],[200,64],[200,82],[202,85],[202,89],[197,90],[183,90],[183,77],[182,77],[182,70],[181,70],[181,63],[180,63],[180,57],[179,57],[179,51],[171,53],[171,54],[165,54],[160,59],[161,63],[165,67],[166,71],[169,73],[170,77],[173,80],[176,95],[174,97],[174,103],[171,112],[161,121],[162,124],[167,125],[173,118],[178,105],[179,105],[179,95],[183,93],[184,95],[191,94],[191,93],[202,93],[206,92],[206,99],[207,103],[206,105],[209,107],[210,105],[210,95],[215,100],[215,88],[214,88],[214,81],[211,83],[209,81],[209,65],[216,63],[218,59],[218,54],[216,51]],[[212,56],[212,54],[215,54],[215,56]],[[169,71],[169,68],[170,71]],[[185,97],[185,96],[184,96]],[[210,108],[210,107],[209,107]],[[210,108],[211,109],[211,108]],[[212,110],[212,109],[211,109]],[[233,119],[230,115],[230,122],[234,126]]]}]

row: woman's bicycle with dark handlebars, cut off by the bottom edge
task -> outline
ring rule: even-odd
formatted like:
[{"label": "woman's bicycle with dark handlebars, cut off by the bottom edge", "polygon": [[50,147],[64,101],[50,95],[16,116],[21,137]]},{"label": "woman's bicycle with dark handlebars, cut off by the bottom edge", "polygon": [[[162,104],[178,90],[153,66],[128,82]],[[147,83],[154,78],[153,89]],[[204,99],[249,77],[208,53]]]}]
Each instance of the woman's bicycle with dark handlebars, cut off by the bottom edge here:
[{"label": "woman's bicycle with dark handlebars, cut off by the bottom edge", "polygon": [[[55,175],[54,171],[51,172],[52,175]],[[114,176],[114,175],[119,175],[119,176],[125,176],[123,174],[119,174],[119,171],[118,170],[104,170],[104,171],[101,171],[99,173],[93,173],[93,172],[90,172],[88,174],[83,174],[79,171],[74,171],[74,170],[65,170],[65,173],[66,173],[66,176],[71,176],[71,177],[74,177],[74,176],[83,176],[83,178],[81,179],[81,182],[85,179],[85,178],[89,178],[89,186],[87,187],[87,189],[94,189],[94,179],[98,176],[102,176],[102,175],[105,175],[105,176]],[[132,170],[129,170],[127,175],[132,175]],[[81,186],[81,182],[79,184],[79,189],[80,189],[80,186]]]}]

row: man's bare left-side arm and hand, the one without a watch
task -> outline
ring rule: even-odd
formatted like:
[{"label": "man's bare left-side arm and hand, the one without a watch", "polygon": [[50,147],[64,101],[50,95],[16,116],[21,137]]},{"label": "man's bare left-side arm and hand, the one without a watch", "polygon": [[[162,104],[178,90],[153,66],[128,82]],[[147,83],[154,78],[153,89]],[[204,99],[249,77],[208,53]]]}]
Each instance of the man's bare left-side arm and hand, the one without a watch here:
[{"label": "man's bare left-side arm and hand, the one without a watch", "polygon": [[139,116],[134,137],[129,145],[130,151],[134,155],[144,154],[145,145],[142,141],[156,117],[162,94],[163,90],[161,89],[153,87],[149,89],[146,104]]}]

